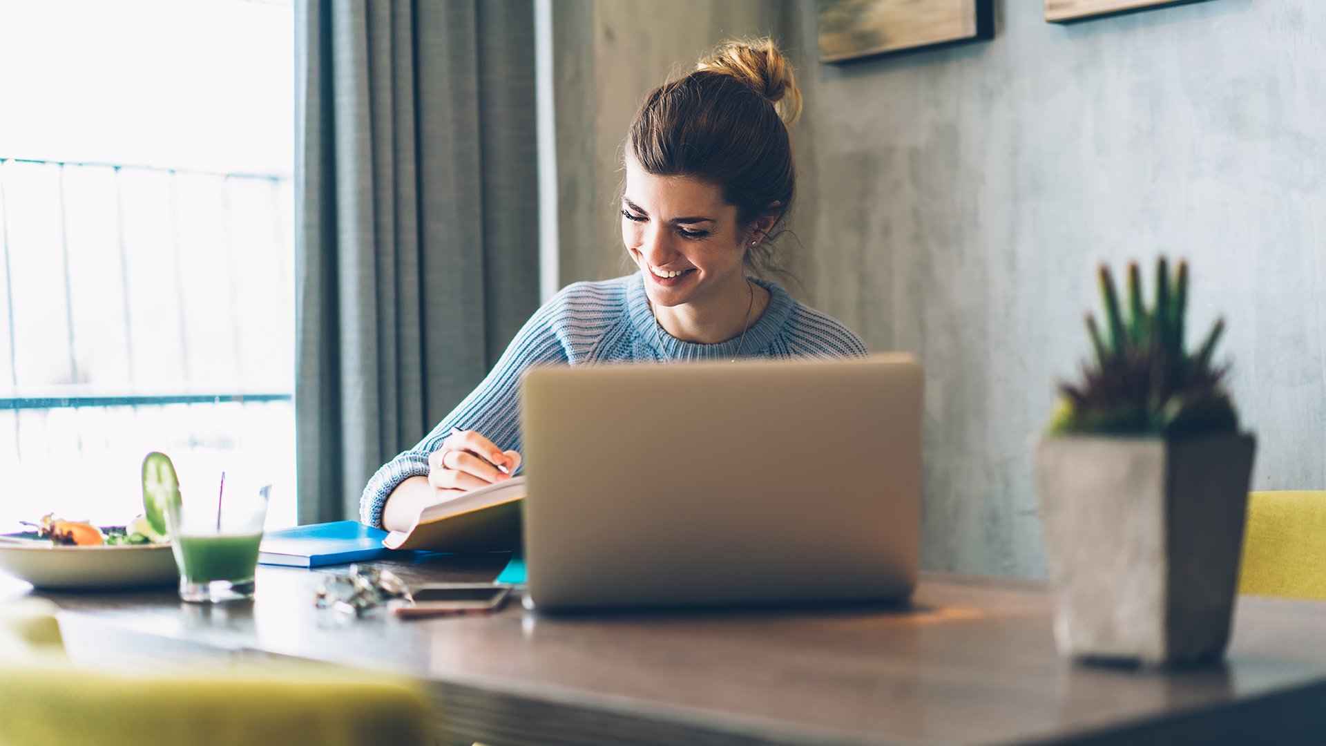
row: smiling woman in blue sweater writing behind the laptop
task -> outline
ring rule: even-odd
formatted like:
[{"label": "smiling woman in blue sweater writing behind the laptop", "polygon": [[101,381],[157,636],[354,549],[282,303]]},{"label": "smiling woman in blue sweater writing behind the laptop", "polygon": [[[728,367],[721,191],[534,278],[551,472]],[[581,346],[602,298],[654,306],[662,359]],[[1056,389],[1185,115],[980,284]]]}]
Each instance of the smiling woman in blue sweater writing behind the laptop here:
[{"label": "smiling woman in blue sweater writing behind the laptop", "polygon": [[[801,93],[769,40],[733,41],[654,89],[625,149],[622,239],[639,272],[575,283],[540,308],[465,401],[374,474],[361,520],[408,528],[419,508],[520,467],[530,365],[866,353],[854,333],[748,277],[792,206],[788,125]],[[646,405],[675,392],[642,392]],[[586,447],[594,447],[586,445]]]}]

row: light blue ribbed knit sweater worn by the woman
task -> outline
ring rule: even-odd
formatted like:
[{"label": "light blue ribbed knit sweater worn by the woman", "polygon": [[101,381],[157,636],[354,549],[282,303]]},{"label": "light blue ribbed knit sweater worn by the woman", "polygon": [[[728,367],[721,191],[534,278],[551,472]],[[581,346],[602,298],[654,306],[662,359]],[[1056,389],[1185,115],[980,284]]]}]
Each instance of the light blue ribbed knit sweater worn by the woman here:
[{"label": "light blue ribbed knit sweater worn by the woman", "polygon": [[[778,284],[769,305],[747,331],[743,357],[847,357],[866,345],[846,327],[793,300]],[[369,479],[359,499],[359,520],[382,526],[382,506],[396,485],[428,475],[428,454],[452,426],[477,430],[503,450],[521,450],[520,377],[532,365],[622,361],[679,361],[732,357],[737,340],[712,345],[680,341],[659,327],[639,272],[564,288],[525,323],[497,365],[465,401],[419,445],[392,458]]]}]

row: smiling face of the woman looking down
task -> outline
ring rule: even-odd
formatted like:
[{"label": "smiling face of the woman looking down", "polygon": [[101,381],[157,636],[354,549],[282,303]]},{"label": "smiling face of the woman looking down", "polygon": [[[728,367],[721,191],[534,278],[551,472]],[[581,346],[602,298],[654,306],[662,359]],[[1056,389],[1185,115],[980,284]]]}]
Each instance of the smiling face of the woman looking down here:
[{"label": "smiling face of the woman looking down", "polygon": [[655,305],[676,307],[745,293],[743,259],[749,227],[713,185],[692,177],[655,177],[626,158],[622,240],[644,272]]}]

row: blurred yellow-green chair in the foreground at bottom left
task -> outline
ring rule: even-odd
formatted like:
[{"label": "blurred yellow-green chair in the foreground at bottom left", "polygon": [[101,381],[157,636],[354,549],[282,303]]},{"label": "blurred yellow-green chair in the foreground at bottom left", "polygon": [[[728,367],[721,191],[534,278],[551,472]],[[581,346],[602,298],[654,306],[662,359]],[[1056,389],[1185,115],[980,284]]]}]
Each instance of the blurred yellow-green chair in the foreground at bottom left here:
[{"label": "blurred yellow-green chair in the foreground at bottom left", "polygon": [[110,673],[65,657],[53,604],[0,604],[0,743],[432,746],[408,681],[332,666]]}]

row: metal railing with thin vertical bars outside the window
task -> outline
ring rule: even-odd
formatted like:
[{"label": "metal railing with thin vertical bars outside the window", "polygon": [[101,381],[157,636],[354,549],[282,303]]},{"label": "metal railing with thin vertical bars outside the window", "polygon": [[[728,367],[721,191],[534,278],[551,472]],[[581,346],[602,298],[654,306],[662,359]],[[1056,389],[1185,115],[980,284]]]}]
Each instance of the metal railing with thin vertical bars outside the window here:
[{"label": "metal railing with thin vertical bars outside the window", "polygon": [[278,483],[294,522],[286,177],[0,157],[0,526],[117,523],[163,450],[182,486]]}]

